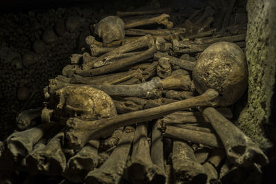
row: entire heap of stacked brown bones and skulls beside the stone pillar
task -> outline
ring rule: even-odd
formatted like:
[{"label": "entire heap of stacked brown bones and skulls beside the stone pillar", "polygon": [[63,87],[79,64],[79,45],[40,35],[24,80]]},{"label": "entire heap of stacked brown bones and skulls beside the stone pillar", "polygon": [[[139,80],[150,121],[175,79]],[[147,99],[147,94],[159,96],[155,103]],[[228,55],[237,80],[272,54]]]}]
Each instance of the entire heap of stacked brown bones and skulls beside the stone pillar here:
[{"label": "entire heap of stacked brown bones and skulls beside the stone pillar", "polygon": [[[63,76],[50,80],[46,108],[19,115],[25,125],[37,116],[43,123],[6,139],[0,156],[8,169],[86,183],[212,183],[260,174],[266,155],[225,107],[246,90],[247,72],[239,42],[221,41],[245,35],[187,36],[169,17],[102,19],[95,26],[102,42],[87,37],[90,52],[73,54]],[[166,29],[145,29],[152,24]],[[195,63],[190,55],[199,53]]]}]

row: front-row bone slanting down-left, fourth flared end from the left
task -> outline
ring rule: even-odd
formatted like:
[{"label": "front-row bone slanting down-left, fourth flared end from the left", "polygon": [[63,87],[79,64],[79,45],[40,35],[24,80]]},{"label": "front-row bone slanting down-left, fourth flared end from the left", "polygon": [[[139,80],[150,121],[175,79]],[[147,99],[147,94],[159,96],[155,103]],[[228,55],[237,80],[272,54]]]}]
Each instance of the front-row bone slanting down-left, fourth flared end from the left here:
[{"label": "front-row bone slanting down-left, fourth flared end from the left", "polygon": [[86,183],[119,183],[124,173],[130,147],[134,136],[134,128],[126,127],[119,144],[112,152],[108,160],[99,167],[88,173]]}]

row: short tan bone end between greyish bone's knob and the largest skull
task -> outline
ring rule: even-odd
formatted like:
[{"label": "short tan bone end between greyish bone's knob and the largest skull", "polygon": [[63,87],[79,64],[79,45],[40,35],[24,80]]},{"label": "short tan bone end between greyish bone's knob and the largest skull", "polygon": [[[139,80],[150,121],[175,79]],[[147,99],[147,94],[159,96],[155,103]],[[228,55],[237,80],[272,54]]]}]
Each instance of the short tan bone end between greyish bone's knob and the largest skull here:
[{"label": "short tan bone end between greyish bone's knob and the largest skull", "polygon": [[161,80],[164,90],[190,90],[190,75],[172,74]]}]

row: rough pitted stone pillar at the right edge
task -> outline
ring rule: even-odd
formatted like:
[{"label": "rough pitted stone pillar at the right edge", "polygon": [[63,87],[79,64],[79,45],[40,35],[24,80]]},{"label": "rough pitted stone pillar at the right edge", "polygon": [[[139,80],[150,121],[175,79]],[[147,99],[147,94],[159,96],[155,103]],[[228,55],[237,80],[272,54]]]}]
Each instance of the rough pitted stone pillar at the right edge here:
[{"label": "rough pitted stone pillar at the right edge", "polygon": [[239,127],[260,147],[271,147],[263,125],[269,122],[276,64],[276,1],[248,0],[246,58],[248,105],[239,116]]}]

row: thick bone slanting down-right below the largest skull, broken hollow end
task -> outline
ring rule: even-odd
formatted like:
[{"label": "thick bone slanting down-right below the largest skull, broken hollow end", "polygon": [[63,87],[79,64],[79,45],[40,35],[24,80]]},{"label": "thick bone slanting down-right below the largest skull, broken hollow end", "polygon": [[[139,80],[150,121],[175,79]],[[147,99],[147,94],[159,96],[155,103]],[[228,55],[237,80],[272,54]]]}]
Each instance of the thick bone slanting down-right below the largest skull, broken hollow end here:
[{"label": "thick bone slanting down-right below the largest skull, broken hollow end", "polygon": [[205,108],[203,114],[210,120],[226,150],[227,158],[235,165],[262,167],[268,158],[253,141],[214,108]]}]

